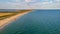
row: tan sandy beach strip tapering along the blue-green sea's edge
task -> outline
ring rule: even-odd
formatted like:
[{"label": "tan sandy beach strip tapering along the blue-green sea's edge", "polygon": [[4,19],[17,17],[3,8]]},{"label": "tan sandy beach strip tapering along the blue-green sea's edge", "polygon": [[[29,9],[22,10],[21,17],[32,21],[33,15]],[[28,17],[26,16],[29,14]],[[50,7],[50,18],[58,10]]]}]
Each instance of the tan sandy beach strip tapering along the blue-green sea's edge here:
[{"label": "tan sandy beach strip tapering along the blue-green sea's edge", "polygon": [[8,25],[12,21],[15,21],[18,17],[23,16],[23,15],[29,13],[29,12],[31,12],[31,11],[22,12],[22,13],[19,13],[19,14],[15,15],[15,16],[11,16],[11,17],[6,18],[4,20],[0,20],[0,29],[2,29],[4,26]]}]

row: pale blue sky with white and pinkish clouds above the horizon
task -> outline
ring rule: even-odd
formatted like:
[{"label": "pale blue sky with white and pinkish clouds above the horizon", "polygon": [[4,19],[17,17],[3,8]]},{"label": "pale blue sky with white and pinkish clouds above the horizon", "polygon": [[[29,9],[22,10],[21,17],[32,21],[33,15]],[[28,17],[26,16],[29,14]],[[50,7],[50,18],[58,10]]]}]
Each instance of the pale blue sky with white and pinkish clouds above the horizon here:
[{"label": "pale blue sky with white and pinkish clouds above the horizon", "polygon": [[0,0],[0,9],[60,8],[60,0]]}]

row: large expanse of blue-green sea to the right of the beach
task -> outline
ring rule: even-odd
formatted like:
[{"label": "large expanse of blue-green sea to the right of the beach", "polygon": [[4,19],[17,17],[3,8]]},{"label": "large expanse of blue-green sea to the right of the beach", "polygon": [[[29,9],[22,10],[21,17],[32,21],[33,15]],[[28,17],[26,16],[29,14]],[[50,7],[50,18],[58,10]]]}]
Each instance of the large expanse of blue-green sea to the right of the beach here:
[{"label": "large expanse of blue-green sea to the right of the beach", "polygon": [[1,34],[60,34],[60,10],[33,10],[5,26]]}]

